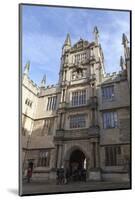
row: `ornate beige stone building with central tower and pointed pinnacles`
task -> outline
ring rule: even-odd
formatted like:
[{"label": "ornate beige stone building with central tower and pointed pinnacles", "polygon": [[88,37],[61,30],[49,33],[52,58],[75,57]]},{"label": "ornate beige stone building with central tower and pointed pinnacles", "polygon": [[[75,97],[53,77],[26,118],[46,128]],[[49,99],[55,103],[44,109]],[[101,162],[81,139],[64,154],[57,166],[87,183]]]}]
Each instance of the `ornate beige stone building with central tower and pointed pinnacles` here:
[{"label": "ornate beige stone building with central tower and pointed pinnacles", "polygon": [[87,180],[129,180],[130,48],[122,36],[121,71],[107,74],[99,31],[94,41],[62,47],[59,81],[37,86],[30,63],[22,78],[22,171],[33,179],[55,179],[60,167],[85,168]]}]

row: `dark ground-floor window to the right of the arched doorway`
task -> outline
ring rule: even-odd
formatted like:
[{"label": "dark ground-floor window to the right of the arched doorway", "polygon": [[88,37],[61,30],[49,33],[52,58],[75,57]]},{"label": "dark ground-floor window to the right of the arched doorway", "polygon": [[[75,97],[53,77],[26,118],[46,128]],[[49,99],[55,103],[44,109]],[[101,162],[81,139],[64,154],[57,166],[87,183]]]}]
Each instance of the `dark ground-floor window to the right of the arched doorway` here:
[{"label": "dark ground-floor window to the right of the arched doorway", "polygon": [[105,165],[117,166],[121,164],[121,147],[120,146],[106,146],[105,147]]}]

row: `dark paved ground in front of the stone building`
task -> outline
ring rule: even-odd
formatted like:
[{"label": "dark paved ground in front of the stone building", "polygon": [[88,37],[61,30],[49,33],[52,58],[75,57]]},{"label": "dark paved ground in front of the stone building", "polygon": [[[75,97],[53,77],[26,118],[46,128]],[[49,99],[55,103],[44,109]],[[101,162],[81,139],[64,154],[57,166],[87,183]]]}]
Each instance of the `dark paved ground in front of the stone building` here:
[{"label": "dark paved ground in front of the stone building", "polygon": [[97,190],[113,190],[113,189],[130,189],[129,182],[73,182],[66,185],[56,185],[55,182],[31,182],[23,183],[23,195],[26,194],[42,194],[42,193],[64,193],[79,191],[97,191]]}]

